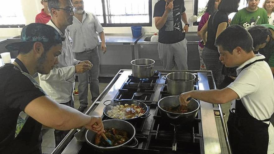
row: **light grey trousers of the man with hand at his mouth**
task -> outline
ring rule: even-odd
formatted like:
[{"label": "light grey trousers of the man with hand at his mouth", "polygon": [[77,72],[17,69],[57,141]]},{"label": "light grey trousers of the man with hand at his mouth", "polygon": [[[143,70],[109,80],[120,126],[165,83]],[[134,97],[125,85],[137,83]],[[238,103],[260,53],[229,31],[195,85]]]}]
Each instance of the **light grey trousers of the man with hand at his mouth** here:
[{"label": "light grey trousers of the man with hand at his mouth", "polygon": [[171,70],[175,64],[178,70],[187,70],[187,40],[173,44],[158,43],[158,53],[164,70]]}]

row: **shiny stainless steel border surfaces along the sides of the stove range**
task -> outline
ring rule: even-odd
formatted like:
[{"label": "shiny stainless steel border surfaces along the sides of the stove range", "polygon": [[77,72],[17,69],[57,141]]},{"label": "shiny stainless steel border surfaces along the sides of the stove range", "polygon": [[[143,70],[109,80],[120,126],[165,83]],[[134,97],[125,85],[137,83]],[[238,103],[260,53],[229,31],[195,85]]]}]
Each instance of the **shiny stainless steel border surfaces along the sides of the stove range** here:
[{"label": "shiny stainless steel border surfaces along the sides of the stove range", "polygon": [[[161,71],[161,70],[159,70]],[[172,72],[172,71],[170,71]],[[200,90],[208,90],[214,88],[214,80],[212,79],[211,71],[189,71],[192,73],[198,73],[200,80],[198,82]],[[123,83],[127,80],[128,76],[131,75],[131,70],[120,70],[106,89],[100,94],[100,96],[95,101],[96,103],[87,110],[86,114],[89,115],[103,115],[103,109],[105,105],[103,102],[105,100],[112,100],[117,94],[118,90],[121,88]],[[168,71],[165,71],[168,73]],[[211,80],[212,79],[212,80]],[[161,86],[161,85],[159,85]],[[158,86],[157,86],[158,88]],[[155,95],[158,95],[155,93]],[[218,138],[218,132],[214,117],[214,111],[212,104],[200,101],[201,104],[201,120],[202,120],[202,132],[203,132],[203,143],[204,143],[204,153],[205,154],[221,154],[220,141]],[[82,147],[81,142],[77,142],[73,134],[76,129],[70,131],[66,138],[61,142],[61,144],[54,150],[52,154],[62,153],[62,154],[76,154]],[[67,145],[67,147],[62,147]],[[61,150],[63,149],[64,150]]]}]

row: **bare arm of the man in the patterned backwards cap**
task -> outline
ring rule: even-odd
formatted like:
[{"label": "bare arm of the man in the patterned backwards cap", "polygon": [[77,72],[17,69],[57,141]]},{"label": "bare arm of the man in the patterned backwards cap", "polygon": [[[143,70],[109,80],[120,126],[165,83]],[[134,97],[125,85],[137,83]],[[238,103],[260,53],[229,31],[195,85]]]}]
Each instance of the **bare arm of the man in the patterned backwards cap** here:
[{"label": "bare arm of the man in the patterned backwards cap", "polygon": [[41,124],[59,130],[79,128],[91,120],[90,116],[72,107],[59,104],[49,96],[41,96],[32,100],[24,111]]}]

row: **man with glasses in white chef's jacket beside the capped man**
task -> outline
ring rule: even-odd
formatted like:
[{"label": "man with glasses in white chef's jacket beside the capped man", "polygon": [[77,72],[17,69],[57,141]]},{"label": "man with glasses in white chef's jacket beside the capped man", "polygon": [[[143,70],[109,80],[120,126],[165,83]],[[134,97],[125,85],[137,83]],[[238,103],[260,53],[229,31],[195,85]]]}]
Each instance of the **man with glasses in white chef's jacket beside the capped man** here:
[{"label": "man with glasses in white chef's jacket beside the capped man", "polygon": [[[74,108],[73,88],[75,73],[87,72],[92,68],[89,61],[78,61],[73,58],[67,26],[73,22],[75,8],[70,0],[48,0],[51,20],[47,23],[54,27],[63,41],[62,52],[58,56],[59,63],[48,74],[39,74],[40,86],[56,102]],[[63,140],[69,131],[54,130],[55,146]]]}]

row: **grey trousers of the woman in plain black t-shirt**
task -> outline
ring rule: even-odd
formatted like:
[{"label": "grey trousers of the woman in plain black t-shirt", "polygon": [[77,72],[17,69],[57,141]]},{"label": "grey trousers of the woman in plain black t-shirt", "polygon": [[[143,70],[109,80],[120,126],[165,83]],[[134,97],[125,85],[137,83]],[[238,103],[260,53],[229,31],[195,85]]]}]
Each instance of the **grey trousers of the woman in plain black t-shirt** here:
[{"label": "grey trousers of the woman in plain black t-shirt", "polygon": [[219,60],[219,52],[204,47],[202,56],[206,70],[212,71],[216,87],[219,89],[220,84],[224,81],[224,75],[222,74],[223,64]]}]

